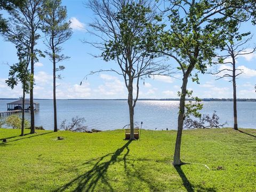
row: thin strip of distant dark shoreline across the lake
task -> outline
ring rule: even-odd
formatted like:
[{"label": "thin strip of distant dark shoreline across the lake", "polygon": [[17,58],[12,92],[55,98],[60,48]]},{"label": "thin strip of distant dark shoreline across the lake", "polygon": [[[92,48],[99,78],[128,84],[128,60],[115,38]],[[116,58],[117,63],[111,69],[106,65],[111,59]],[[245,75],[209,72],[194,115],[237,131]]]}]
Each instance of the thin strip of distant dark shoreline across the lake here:
[{"label": "thin strip of distant dark shoreline across the lake", "polygon": [[[19,98],[0,98],[0,100],[19,100]],[[34,100],[52,100],[52,99],[34,99]],[[126,101],[127,99],[57,99],[67,101]],[[138,101],[179,101],[180,99],[138,99]],[[191,101],[192,99],[187,99]],[[233,101],[233,99],[217,99],[217,98],[204,98],[202,101]],[[237,99],[237,101],[256,102],[256,99]]]}]

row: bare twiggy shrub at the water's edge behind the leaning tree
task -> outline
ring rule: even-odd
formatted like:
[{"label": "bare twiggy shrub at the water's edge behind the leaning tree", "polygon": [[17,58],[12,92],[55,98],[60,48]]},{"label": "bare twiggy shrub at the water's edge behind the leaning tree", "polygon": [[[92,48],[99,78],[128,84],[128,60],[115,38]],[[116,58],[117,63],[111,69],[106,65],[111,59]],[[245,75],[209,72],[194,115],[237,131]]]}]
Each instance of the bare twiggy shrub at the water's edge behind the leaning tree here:
[{"label": "bare twiggy shrub at the water's edge behind the leaning tree", "polygon": [[199,117],[199,120],[191,119],[190,117],[186,118],[184,121],[184,127],[186,129],[206,129],[206,128],[222,128],[227,122],[220,124],[220,117],[216,114],[216,111],[213,112],[212,116],[203,115]]}]

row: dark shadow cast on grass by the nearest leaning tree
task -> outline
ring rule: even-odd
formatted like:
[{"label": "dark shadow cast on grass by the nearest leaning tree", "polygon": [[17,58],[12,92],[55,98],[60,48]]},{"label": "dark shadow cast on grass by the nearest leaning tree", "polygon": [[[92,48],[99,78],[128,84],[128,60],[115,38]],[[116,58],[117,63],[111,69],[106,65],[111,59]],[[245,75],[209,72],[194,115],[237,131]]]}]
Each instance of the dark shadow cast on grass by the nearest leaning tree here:
[{"label": "dark shadow cast on grass by the nearest leaning tree", "polygon": [[[186,165],[189,163],[183,163],[182,165]],[[204,188],[202,186],[199,185],[192,185],[188,178],[186,177],[186,174],[182,171],[181,166],[182,165],[177,165],[174,166],[175,170],[178,172],[178,174],[180,175],[180,178],[182,179],[183,182],[183,186],[187,189],[188,192],[194,192],[194,188],[196,188],[196,191],[208,191],[208,192],[215,192],[216,190],[214,188]]]}]

